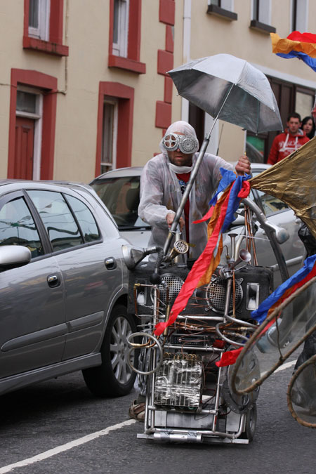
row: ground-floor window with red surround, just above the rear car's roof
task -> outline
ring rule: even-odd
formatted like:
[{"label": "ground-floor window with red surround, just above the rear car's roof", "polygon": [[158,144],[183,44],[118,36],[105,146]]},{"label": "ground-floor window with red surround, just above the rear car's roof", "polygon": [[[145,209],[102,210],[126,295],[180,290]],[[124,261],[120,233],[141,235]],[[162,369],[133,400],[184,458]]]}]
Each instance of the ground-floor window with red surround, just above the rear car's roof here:
[{"label": "ground-floor window with red surround, just above the rear car's roof", "polygon": [[100,171],[131,166],[134,89],[100,82],[96,176]]}]

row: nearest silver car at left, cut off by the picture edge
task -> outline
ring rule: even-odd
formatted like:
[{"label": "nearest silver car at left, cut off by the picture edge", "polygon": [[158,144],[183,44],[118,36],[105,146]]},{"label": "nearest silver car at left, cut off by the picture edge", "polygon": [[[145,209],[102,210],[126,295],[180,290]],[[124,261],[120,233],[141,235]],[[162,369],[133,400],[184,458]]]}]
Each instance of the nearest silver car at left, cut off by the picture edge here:
[{"label": "nearest silver car at left, cut off by the picture edge", "polygon": [[91,187],[0,181],[0,393],[79,369],[95,395],[129,393],[124,244]]}]

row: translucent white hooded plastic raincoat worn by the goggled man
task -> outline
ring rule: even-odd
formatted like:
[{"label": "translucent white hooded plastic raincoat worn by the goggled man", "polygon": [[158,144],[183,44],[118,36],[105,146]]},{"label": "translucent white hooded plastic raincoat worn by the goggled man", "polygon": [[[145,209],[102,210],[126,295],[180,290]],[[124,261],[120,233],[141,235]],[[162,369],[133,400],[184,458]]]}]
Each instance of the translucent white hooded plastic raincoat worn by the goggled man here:
[{"label": "translucent white hooded plastic raincoat worn by the goggled man", "polygon": [[[185,121],[177,121],[169,126],[166,135],[171,132],[185,133],[196,138],[195,130]],[[176,213],[182,199],[182,193],[176,173],[169,166],[168,154],[164,150],[162,142],[160,142],[159,147],[162,153],[147,162],[140,178],[138,214],[140,218],[152,226],[149,245],[164,247],[169,230],[166,215],[170,211]],[[198,153],[195,153],[192,157],[192,166],[195,165],[197,157]],[[190,242],[188,242],[189,253],[187,258],[198,258],[206,246],[207,223],[193,224],[193,221],[202,218],[209,210],[209,201],[221,178],[220,167],[233,169],[231,164],[220,157],[209,153],[204,155],[189,196]],[[184,212],[182,217],[185,218]],[[185,227],[181,238],[186,240]]]}]

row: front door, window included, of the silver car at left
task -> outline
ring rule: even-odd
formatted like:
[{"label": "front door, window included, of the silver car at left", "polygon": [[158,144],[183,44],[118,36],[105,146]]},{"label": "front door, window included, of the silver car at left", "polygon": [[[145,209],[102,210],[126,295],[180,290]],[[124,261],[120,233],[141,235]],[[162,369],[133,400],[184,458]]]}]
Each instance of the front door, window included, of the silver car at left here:
[{"label": "front door, window included, of the silver car at left", "polygon": [[64,284],[36,214],[22,191],[0,199],[0,245],[32,254],[27,265],[0,271],[1,378],[60,362],[65,346]]}]

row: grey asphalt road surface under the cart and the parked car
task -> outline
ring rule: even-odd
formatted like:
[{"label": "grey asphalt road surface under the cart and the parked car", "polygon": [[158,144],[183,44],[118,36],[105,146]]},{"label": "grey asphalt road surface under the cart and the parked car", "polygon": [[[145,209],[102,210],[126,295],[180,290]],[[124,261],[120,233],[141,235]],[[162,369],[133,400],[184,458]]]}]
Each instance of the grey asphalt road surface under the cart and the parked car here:
[{"label": "grey asphalt road surface under the cart and the parked car", "polygon": [[263,384],[250,445],[138,440],[143,426],[128,416],[135,393],[94,398],[81,372],[4,395],[0,474],[314,474],[316,430],[298,425],[287,409],[292,369],[277,372]]}]

